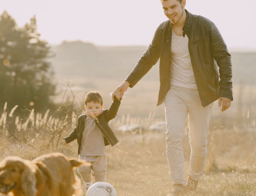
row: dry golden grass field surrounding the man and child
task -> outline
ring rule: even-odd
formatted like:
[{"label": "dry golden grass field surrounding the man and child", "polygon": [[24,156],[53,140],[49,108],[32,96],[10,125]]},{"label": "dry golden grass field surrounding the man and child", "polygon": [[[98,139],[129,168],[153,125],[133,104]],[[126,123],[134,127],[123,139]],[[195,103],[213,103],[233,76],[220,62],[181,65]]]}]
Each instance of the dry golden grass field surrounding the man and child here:
[{"label": "dry golden grass field surrounding the man and child", "polygon": [[[80,80],[80,79],[78,79]],[[75,84],[77,81],[73,81]],[[97,80],[95,89],[103,94],[104,107],[111,104],[110,92],[119,84],[116,80]],[[69,86],[70,87],[70,86]],[[62,138],[71,132],[77,116],[83,110],[83,97],[94,87],[67,88],[66,97],[72,108],[36,114],[21,119],[7,113],[8,104],[0,113],[0,161],[6,156],[32,160],[49,152],[62,152],[77,157],[76,141],[63,146]],[[62,89],[63,90],[63,89]],[[256,90],[252,86],[235,86],[234,101],[225,112],[214,103],[208,137],[205,171],[199,181],[196,196],[256,196]],[[68,94],[69,93],[69,94]],[[121,101],[118,116],[110,121],[116,130],[123,124],[142,124],[146,129],[164,120],[164,106],[156,107],[158,82],[142,80],[129,89]],[[60,94],[60,96],[63,96]],[[57,99],[57,98],[56,98]],[[63,105],[65,106],[66,101]],[[120,142],[107,147],[107,181],[119,196],[166,196],[172,189],[168,179],[165,155],[165,134],[121,134]],[[185,178],[189,170],[190,147],[184,138]],[[2,195],[0,195],[2,196]]]}]

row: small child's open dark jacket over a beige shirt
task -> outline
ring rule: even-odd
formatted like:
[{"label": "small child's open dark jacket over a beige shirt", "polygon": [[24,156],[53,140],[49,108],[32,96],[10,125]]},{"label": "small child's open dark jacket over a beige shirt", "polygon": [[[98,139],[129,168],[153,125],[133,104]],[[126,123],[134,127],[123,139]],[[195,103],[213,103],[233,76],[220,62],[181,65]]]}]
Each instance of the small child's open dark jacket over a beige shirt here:
[{"label": "small child's open dark jacket over a beige shirt", "polygon": [[[111,144],[111,146],[114,146],[117,142],[118,139],[108,125],[108,121],[111,119],[115,118],[118,108],[120,106],[120,101],[114,97],[115,100],[111,104],[110,108],[108,110],[104,110],[99,116],[98,120],[96,119],[96,124],[101,130],[103,136],[104,136],[104,142],[105,146],[108,146]],[[66,140],[67,143],[74,141],[77,139],[77,144],[78,144],[78,154],[80,153],[80,148],[81,148],[81,139],[82,135],[84,132],[84,120],[86,118],[85,114],[82,114],[81,116],[78,117],[77,119],[77,124],[76,127],[73,129],[73,131],[67,136],[64,137],[63,139]]]}]

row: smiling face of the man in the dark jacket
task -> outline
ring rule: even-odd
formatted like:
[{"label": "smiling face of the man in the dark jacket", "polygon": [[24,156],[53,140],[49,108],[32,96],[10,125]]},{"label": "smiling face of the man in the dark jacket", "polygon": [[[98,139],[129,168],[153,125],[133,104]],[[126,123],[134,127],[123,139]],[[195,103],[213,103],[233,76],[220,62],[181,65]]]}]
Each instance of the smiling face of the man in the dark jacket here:
[{"label": "smiling face of the man in the dark jacket", "polygon": [[181,3],[178,0],[162,1],[163,12],[173,24],[179,22],[180,18],[184,14],[185,3],[185,0],[182,0]]}]

